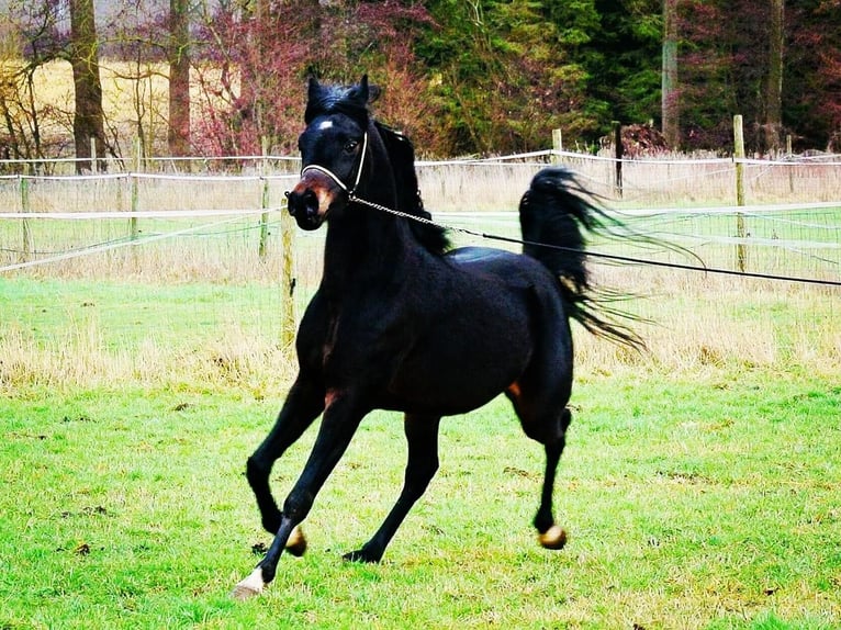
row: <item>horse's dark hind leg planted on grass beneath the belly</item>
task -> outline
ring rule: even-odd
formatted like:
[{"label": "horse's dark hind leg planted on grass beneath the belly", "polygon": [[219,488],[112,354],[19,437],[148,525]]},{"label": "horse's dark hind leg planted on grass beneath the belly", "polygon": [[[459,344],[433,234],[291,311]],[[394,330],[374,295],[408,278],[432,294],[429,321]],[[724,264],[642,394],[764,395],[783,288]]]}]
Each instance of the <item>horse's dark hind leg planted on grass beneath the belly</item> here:
[{"label": "horse's dark hind leg planted on grass beneath the belly", "polygon": [[438,471],[438,426],[440,416],[419,416],[406,414],[404,428],[408,442],[403,491],[385,520],[371,540],[361,549],[345,554],[351,562],[380,562],[385,548],[397,532],[403,519],[426,492],[429,482]]}]

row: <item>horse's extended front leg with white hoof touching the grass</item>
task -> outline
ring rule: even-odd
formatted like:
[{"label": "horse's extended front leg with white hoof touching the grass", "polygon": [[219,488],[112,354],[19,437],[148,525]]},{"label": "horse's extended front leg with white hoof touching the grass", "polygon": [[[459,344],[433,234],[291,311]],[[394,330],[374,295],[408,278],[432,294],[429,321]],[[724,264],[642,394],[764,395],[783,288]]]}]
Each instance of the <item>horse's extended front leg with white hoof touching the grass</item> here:
[{"label": "horse's extended front leg with white hoof touching the grass", "polygon": [[310,514],[318,491],[345,454],[362,417],[370,410],[357,404],[354,396],[328,391],[326,400],[330,403],[324,412],[318,436],[301,476],[283,504],[274,540],[254,572],[234,588],[233,596],[237,599],[259,595],[274,580],[283,549]]}]

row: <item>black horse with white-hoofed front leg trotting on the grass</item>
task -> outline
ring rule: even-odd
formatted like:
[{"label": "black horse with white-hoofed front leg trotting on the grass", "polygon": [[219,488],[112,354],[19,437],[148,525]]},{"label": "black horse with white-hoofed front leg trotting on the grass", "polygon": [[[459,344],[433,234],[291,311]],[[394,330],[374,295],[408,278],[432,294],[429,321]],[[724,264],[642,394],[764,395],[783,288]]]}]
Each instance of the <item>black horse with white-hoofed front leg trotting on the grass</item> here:
[{"label": "black horse with white-hoofed front leg trotting on the grass", "polygon": [[[284,548],[304,552],[298,526],[374,408],[404,414],[405,483],[380,529],[346,559],[382,558],[438,469],[441,417],[475,409],[502,392],[526,435],[546,449],[534,524],[543,547],[562,548],[567,535],[552,515],[552,490],[571,419],[569,320],[638,341],[597,312],[581,227],[598,229],[607,217],[581,196],[570,172],[540,171],[523,196],[524,255],[448,251],[445,230],[423,207],[412,145],[369,113],[373,91],[367,77],[348,89],[310,81],[299,140],[303,170],[288,198],[301,228],[327,224],[324,272],[298,331],[298,378],[274,427],[248,459],[248,482],[274,540],[237,585],[239,598],[272,581]],[[269,487],[271,468],[322,414],[310,459],[281,510]]]}]

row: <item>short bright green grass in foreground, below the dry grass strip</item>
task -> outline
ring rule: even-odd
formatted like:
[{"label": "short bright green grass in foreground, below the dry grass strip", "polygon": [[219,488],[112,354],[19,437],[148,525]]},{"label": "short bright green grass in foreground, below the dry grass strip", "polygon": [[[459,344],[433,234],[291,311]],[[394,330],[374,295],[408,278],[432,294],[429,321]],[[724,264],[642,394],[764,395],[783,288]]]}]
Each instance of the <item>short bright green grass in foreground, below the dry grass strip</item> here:
[{"label": "short bright green grass in foreground, below the dry grass strip", "polygon": [[[243,476],[281,392],[32,387],[0,401],[2,628],[833,628],[841,387],[764,372],[586,376],[557,486],[497,401],[442,429],[441,471],[384,562],[345,564],[395,498],[399,418],[371,416],[263,597]],[[282,496],[312,432],[278,465]]]}]

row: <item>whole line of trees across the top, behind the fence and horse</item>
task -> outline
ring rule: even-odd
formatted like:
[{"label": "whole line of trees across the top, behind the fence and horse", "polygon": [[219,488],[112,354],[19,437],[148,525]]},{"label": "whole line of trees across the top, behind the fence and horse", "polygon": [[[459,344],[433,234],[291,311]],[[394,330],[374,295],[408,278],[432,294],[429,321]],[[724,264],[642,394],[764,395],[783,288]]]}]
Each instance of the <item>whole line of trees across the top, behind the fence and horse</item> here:
[{"label": "whole line of trees across the top, behind the fence and horse", "polygon": [[[552,128],[594,147],[614,121],[729,150],[735,113],[756,151],[841,139],[837,0],[5,0],[0,13],[2,157],[117,156],[127,135],[158,155],[255,155],[266,138],[294,150],[305,77],[363,72],[383,88],[379,116],[428,155],[546,148]],[[57,61],[72,106],[35,93]],[[134,128],[106,116],[102,67],[136,87]],[[153,77],[165,138],[144,122]]]}]

